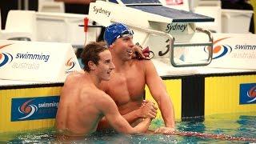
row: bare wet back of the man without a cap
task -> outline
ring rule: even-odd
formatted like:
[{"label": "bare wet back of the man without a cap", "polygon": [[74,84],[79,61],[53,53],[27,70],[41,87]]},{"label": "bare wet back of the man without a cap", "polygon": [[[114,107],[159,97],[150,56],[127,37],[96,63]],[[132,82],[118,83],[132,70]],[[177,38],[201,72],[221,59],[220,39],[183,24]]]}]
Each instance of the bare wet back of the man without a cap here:
[{"label": "bare wet back of the man without a cap", "polygon": [[98,90],[86,74],[74,73],[66,78],[56,117],[56,128],[68,135],[81,135],[94,131],[102,118],[97,109]]}]

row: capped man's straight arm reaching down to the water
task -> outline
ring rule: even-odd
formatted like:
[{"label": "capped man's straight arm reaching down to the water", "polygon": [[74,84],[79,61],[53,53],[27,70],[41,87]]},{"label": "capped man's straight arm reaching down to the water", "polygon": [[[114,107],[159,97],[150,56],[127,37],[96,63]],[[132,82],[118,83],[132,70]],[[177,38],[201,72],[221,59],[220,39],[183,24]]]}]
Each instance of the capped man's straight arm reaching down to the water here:
[{"label": "capped man's straight arm reaching down to the water", "polygon": [[166,127],[174,128],[174,106],[167,94],[166,86],[162,82],[162,78],[158,76],[154,64],[151,61],[144,62],[144,66],[146,66],[146,85],[150,89],[150,94],[158,103]]}]

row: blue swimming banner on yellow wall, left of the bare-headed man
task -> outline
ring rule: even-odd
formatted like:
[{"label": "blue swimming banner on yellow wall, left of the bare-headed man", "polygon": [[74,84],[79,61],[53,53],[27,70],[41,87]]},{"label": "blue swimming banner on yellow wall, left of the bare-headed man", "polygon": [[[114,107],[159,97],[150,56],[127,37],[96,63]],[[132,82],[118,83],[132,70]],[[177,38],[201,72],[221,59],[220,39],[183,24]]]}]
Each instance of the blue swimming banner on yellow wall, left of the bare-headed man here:
[{"label": "blue swimming banner on yellow wall, left of the bare-headed man", "polygon": [[12,98],[11,122],[55,118],[59,96]]}]

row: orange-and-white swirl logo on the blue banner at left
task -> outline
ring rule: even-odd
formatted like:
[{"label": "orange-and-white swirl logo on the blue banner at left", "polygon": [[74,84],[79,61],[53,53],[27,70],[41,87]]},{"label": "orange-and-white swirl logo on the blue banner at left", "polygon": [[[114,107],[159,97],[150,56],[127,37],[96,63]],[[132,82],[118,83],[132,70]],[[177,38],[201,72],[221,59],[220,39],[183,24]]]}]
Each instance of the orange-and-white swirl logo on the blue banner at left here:
[{"label": "orange-and-white swirl logo on the blue banner at left", "polygon": [[18,106],[18,111],[22,114],[25,114],[24,117],[18,118],[18,119],[25,119],[29,118],[31,115],[33,115],[36,111],[38,111],[38,106],[35,106],[34,104],[30,104],[34,99],[28,100],[22,104],[22,106]]}]

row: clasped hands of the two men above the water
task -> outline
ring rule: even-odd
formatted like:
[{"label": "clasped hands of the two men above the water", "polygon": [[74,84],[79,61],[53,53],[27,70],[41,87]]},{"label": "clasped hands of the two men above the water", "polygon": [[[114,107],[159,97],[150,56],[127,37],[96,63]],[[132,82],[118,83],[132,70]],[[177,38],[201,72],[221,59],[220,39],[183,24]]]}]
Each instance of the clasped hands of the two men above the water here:
[{"label": "clasped hands of the two men above the water", "polygon": [[138,109],[140,118],[156,118],[158,107],[154,102],[143,101],[142,106]]}]

